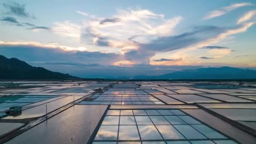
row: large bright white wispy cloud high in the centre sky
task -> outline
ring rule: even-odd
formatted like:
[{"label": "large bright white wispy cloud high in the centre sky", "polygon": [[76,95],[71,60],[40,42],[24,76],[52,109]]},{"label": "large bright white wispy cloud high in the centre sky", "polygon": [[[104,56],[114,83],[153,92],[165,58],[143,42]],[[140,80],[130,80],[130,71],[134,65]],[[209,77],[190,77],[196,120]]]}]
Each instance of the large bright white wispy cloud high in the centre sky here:
[{"label": "large bright white wispy cloud high in the centre sky", "polygon": [[[117,14],[110,17],[85,19],[82,24],[56,22],[53,32],[65,37],[80,38],[81,43],[85,44],[136,49],[134,41],[148,42],[157,37],[172,35],[173,28],[181,20],[181,16],[165,19],[163,14],[130,9],[117,11]],[[131,37],[133,39],[129,40]]]}]

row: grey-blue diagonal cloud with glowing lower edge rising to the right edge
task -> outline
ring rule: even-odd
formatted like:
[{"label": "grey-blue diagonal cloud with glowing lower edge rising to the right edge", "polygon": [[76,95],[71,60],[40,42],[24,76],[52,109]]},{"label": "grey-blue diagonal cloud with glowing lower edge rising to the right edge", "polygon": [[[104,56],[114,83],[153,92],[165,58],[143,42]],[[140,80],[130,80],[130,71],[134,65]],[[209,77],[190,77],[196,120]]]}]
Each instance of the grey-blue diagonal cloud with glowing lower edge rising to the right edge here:
[{"label": "grey-blue diagonal cloud with glowing lower edge rising to the right edge", "polygon": [[[183,53],[189,53],[190,50],[207,47],[209,49],[208,53],[211,57],[215,59],[222,58],[224,56],[227,56],[231,52],[231,50],[229,48],[209,45],[218,43],[219,41],[224,40],[230,35],[245,32],[253,24],[253,22],[250,22],[230,28],[211,26],[197,27],[191,32],[185,32],[181,35],[161,37],[157,40],[152,40],[150,43],[139,44],[139,51],[163,53],[182,49],[179,51]],[[170,65],[172,63],[165,62],[162,64]],[[180,61],[179,64],[184,64],[184,62]]]}]

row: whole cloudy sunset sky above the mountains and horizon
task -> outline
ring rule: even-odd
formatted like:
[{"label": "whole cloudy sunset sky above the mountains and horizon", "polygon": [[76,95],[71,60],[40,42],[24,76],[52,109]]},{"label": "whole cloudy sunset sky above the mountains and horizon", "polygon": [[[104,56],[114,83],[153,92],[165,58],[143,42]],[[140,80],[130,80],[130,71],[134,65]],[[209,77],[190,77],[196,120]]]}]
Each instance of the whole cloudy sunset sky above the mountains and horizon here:
[{"label": "whole cloudy sunset sky above the mountains and horizon", "polygon": [[0,0],[0,55],[88,78],[256,69],[255,0]]}]

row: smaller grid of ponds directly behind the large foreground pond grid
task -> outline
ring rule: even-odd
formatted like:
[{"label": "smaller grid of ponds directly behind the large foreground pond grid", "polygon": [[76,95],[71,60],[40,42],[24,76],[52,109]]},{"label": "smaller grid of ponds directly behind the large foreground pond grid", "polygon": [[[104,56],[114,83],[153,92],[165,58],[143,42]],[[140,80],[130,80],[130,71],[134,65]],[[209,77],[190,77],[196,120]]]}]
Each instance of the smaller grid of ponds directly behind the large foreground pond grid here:
[{"label": "smaller grid of ponds directly behind the large foreground pond grid", "polygon": [[148,94],[96,94],[80,104],[164,104]]}]

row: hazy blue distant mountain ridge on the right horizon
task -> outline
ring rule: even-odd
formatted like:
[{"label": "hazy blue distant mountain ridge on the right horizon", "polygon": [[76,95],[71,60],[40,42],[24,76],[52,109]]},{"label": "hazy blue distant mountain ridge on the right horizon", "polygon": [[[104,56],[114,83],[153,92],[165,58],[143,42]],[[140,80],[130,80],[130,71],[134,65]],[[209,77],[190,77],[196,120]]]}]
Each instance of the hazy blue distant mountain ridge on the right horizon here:
[{"label": "hazy blue distant mountain ridge on the right horizon", "polygon": [[185,69],[159,76],[136,76],[133,79],[255,79],[256,70],[234,67]]}]

